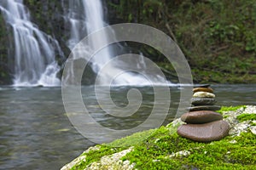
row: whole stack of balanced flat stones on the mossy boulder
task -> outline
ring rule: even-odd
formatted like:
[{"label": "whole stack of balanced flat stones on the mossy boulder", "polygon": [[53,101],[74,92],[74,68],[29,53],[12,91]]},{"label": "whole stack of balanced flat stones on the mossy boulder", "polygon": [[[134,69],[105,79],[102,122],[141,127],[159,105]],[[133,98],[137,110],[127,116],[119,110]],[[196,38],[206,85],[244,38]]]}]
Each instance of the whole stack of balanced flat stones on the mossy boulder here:
[{"label": "whole stack of balanced flat stones on the mossy boulder", "polygon": [[209,84],[194,87],[192,106],[187,108],[189,112],[181,116],[181,120],[187,124],[178,127],[177,134],[198,142],[211,142],[227,136],[229,123],[215,112],[220,109],[215,103],[215,94]]}]

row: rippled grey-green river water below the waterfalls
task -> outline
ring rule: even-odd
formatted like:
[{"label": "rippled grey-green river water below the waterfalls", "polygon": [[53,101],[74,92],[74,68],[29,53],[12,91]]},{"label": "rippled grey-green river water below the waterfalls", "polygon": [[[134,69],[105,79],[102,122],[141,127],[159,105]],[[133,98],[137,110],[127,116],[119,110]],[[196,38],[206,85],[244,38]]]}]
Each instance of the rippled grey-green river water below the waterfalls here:
[{"label": "rippled grey-green river water below the waterfalls", "polygon": [[[256,84],[213,85],[212,88],[218,105],[256,105]],[[129,89],[112,88],[116,105],[127,105],[125,96]],[[104,115],[96,102],[94,87],[83,87],[82,94],[97,121],[119,129],[143,122],[154,105],[153,89],[138,89],[143,94],[143,104],[126,121]],[[164,124],[172,122],[179,89],[170,87],[172,105]],[[60,169],[93,144],[69,122],[61,88],[0,87],[0,169]]]}]

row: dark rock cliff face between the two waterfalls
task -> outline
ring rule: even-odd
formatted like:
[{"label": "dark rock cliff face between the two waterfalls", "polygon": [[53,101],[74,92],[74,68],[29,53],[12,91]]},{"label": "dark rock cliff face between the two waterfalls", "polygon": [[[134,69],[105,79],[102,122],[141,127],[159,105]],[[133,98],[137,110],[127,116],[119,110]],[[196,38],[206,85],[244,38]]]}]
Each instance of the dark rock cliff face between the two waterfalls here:
[{"label": "dark rock cliff face between the two waterfalls", "polygon": [[66,45],[68,30],[65,27],[63,15],[64,8],[68,5],[68,0],[25,0],[24,4],[31,13],[32,22],[35,23],[41,31],[55,37],[60,43],[65,56],[67,56],[70,50]]}]

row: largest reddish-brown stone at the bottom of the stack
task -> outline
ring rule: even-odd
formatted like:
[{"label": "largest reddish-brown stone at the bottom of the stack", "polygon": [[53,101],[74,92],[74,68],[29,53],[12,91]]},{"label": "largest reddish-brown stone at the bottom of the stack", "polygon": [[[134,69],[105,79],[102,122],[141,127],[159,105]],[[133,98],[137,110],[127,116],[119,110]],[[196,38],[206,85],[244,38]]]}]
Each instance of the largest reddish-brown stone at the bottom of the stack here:
[{"label": "largest reddish-brown stone at the bottom of the stack", "polygon": [[223,139],[229,131],[229,123],[223,120],[203,124],[184,124],[177,128],[178,135],[198,142]]}]

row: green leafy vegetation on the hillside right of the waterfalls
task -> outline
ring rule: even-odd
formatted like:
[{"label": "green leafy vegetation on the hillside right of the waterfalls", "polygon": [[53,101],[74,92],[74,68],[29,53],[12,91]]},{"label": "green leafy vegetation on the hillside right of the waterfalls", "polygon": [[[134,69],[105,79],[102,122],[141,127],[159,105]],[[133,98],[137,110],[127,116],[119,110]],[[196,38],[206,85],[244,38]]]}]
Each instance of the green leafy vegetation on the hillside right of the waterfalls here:
[{"label": "green leafy vegetation on the hillside right of the waterfalls", "polygon": [[[120,20],[154,26],[172,37],[188,59],[195,82],[256,82],[255,1],[114,2],[109,8]],[[154,59],[172,71],[163,56]]]}]

